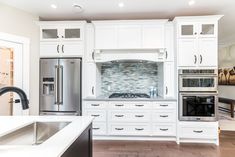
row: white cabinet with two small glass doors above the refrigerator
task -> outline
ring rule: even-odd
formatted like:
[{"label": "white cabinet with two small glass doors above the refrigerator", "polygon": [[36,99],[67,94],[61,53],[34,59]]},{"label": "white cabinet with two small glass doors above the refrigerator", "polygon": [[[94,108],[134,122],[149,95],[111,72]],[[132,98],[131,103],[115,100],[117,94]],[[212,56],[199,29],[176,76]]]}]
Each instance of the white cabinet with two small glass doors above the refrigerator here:
[{"label": "white cabinet with two small glass doors above the refrigerator", "polygon": [[84,23],[40,22],[41,41],[79,41],[84,39]]}]

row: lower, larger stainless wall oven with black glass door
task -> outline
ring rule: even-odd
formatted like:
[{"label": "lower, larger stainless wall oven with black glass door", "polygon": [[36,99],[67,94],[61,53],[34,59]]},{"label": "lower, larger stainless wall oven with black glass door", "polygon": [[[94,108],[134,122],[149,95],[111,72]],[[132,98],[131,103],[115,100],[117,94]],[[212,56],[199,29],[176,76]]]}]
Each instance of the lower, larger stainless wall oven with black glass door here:
[{"label": "lower, larger stainless wall oven with black glass door", "polygon": [[217,121],[217,112],[217,93],[181,92],[179,94],[181,121]]}]

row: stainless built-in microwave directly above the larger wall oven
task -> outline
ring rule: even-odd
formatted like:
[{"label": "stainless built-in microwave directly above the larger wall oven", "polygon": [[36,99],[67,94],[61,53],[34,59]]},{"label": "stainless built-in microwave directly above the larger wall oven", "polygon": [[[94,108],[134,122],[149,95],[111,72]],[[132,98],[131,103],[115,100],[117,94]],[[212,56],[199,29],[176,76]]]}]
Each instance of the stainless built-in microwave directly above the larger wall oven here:
[{"label": "stainless built-in microwave directly above the larger wall oven", "polygon": [[179,91],[217,91],[217,70],[179,70]]}]

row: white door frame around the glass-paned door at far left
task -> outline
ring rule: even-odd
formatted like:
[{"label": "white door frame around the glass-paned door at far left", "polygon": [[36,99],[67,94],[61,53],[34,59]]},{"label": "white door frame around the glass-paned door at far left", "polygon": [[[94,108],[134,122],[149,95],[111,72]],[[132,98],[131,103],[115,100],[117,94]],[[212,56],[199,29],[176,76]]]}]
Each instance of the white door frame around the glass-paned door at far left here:
[{"label": "white door frame around the glass-paned door at far left", "polygon": [[[22,44],[23,51],[22,51],[22,59],[23,59],[23,82],[22,88],[29,97],[29,67],[30,67],[30,39],[22,36],[12,35],[4,32],[0,32],[0,40],[12,43]],[[23,112],[23,115],[29,114],[29,111]]]}]

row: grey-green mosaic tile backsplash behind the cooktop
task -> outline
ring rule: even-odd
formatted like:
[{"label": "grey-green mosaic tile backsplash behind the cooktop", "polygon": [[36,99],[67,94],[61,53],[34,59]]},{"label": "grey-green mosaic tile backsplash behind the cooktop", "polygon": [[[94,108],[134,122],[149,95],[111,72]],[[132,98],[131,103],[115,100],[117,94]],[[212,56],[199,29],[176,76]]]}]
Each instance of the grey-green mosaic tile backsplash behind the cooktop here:
[{"label": "grey-green mosaic tile backsplash behind the cooktop", "polygon": [[143,63],[104,63],[101,65],[101,94],[146,93],[158,86],[158,65]]}]

